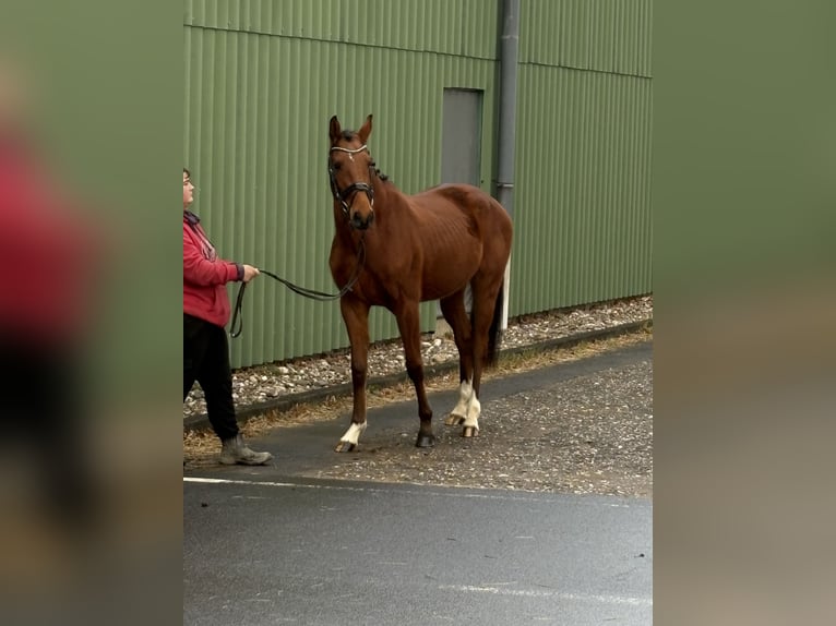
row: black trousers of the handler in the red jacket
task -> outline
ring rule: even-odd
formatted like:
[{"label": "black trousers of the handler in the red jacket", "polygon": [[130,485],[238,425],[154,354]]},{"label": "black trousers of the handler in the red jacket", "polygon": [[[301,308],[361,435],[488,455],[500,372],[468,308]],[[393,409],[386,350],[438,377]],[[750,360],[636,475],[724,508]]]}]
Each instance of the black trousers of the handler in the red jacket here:
[{"label": "black trousers of the handler in the red jacket", "polygon": [[222,441],[236,436],[238,422],[226,330],[183,313],[183,400],[195,381],[206,397],[206,414],[215,434]]}]

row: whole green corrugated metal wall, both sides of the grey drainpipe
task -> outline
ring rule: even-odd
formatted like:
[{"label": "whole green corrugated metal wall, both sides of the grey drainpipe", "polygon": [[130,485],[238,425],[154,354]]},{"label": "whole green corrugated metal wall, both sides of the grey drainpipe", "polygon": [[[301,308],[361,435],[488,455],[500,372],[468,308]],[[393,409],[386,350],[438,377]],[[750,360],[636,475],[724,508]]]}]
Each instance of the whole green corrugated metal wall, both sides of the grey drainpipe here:
[{"label": "whole green corrugated metal wall, both sides of the grey drainpipe", "polygon": [[[650,290],[649,0],[593,3],[635,10],[624,22],[580,1],[521,3],[512,316]],[[493,191],[500,8],[187,0],[184,159],[219,253],[334,291],[329,119],[357,128],[373,113],[380,168],[416,192],[440,180],[444,87],[485,92],[481,178]],[[433,317],[425,304],[426,329]],[[266,277],[247,289],[243,324],[234,366],[347,346],[336,302]],[[397,337],[387,312],[373,313],[371,334]]]}]

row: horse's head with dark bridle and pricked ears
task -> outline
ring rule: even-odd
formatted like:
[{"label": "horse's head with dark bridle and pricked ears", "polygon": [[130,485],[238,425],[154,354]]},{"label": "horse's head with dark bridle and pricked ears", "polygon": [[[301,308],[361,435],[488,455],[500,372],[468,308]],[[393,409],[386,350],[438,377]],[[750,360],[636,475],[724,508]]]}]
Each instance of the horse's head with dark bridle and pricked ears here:
[{"label": "horse's head with dark bridle and pricked ears", "polygon": [[366,146],[366,140],[371,134],[371,116],[366,118],[366,123],[357,132],[344,131],[334,116],[331,118],[329,134],[331,193],[343,208],[351,228],[366,230],[374,220],[374,190],[371,178],[374,161]]}]

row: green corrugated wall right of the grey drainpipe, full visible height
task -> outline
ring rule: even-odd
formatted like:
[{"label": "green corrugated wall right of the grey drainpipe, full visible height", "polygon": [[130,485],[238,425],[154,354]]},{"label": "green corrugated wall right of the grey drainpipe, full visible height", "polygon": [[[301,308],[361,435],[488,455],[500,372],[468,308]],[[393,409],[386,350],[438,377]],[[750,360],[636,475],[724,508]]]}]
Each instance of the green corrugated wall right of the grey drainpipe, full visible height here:
[{"label": "green corrugated wall right of the grey drainpipe, full visible height", "polygon": [[652,0],[522,2],[511,314],[652,290]]}]

